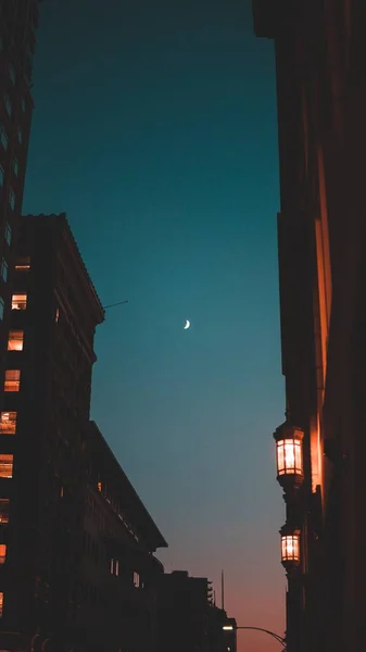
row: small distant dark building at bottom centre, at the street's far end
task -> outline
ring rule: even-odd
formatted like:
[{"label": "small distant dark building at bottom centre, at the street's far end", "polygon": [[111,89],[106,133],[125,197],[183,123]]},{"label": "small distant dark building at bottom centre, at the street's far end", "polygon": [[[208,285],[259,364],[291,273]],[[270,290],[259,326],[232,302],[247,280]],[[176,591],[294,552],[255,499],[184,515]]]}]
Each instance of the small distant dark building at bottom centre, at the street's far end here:
[{"label": "small distant dark building at bottom centre, at the street's far end", "polygon": [[157,604],[159,652],[236,652],[236,622],[214,605],[207,578],[187,570],[163,575]]}]

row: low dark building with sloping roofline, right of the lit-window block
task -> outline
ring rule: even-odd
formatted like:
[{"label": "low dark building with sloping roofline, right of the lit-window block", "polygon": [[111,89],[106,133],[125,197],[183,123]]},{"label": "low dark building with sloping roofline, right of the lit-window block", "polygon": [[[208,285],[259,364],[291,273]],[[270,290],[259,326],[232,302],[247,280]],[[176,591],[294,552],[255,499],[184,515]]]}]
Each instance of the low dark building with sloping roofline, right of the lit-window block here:
[{"label": "low dark building with sloping roofline, right of the lit-window block", "polygon": [[153,553],[167,543],[94,423],[85,447],[81,649],[155,652],[156,586],[164,568]]}]

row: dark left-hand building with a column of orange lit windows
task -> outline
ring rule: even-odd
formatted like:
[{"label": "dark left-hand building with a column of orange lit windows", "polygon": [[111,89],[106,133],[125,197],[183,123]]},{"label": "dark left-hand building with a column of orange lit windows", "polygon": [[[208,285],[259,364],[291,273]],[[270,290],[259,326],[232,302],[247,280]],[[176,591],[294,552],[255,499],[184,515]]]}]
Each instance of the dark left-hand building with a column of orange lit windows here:
[{"label": "dark left-hand building with a column of orange lit windows", "polygon": [[37,632],[62,645],[75,619],[83,434],[104,318],[64,214],[22,218],[11,308],[0,413],[1,629],[25,638],[3,645],[22,649]]}]

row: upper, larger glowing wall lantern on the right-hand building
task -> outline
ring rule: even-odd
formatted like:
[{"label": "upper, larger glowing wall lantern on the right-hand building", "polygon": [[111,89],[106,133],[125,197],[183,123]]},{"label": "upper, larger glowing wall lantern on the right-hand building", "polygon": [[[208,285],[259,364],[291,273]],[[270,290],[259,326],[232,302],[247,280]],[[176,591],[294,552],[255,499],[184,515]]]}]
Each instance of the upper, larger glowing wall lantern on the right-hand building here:
[{"label": "upper, larger glowing wall lantern on the right-hand building", "polygon": [[279,484],[300,485],[304,479],[303,430],[285,423],[277,428],[274,437]]}]

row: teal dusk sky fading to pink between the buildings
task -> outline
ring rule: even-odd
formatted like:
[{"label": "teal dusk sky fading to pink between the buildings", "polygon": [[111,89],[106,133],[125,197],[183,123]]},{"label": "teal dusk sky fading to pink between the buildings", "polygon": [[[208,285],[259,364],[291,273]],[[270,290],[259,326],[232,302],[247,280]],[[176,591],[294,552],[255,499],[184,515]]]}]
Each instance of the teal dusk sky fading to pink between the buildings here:
[{"label": "teal dusk sky fading to pink between the buildings", "polygon": [[224,568],[229,615],[282,634],[273,43],[250,0],[48,0],[38,37],[24,212],[65,211],[102,303],[129,300],[98,329],[92,418],[166,569],[218,601]]}]

